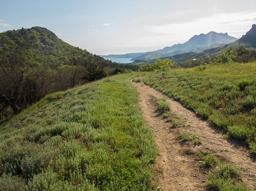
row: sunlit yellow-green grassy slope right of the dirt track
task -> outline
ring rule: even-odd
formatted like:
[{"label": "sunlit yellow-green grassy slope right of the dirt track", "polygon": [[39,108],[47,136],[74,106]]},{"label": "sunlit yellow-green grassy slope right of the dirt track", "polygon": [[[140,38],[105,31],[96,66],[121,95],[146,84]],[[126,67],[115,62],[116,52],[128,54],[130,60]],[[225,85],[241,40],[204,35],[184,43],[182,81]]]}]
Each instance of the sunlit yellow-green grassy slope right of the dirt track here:
[{"label": "sunlit yellow-green grassy slope right of the dirt track", "polygon": [[256,153],[256,63],[207,65],[150,73],[144,82],[246,141]]}]

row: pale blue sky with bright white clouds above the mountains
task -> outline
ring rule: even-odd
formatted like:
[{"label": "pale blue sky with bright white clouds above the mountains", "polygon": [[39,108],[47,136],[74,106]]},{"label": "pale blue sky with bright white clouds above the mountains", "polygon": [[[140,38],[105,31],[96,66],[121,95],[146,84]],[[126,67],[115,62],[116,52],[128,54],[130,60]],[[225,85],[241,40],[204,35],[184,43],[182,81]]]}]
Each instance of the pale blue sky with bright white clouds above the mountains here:
[{"label": "pale blue sky with bright white clouds above the mountains", "polygon": [[40,26],[97,55],[162,49],[210,31],[241,38],[255,0],[0,0],[0,32]]}]

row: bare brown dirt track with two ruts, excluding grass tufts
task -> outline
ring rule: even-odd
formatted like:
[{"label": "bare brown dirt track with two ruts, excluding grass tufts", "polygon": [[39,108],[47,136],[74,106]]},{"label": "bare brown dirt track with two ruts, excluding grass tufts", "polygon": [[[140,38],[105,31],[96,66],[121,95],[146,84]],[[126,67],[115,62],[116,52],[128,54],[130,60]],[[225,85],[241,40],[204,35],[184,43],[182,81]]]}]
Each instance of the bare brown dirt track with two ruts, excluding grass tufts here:
[{"label": "bare brown dirt track with two ruts, excluding grass tufts", "polygon": [[[172,123],[157,112],[152,98],[166,97],[154,88],[133,82],[139,91],[139,104],[142,106],[143,117],[147,125],[154,130],[154,137],[159,149],[155,165],[156,179],[163,191],[200,191],[206,190],[208,172],[204,172],[195,160],[195,151],[209,152],[222,161],[235,164],[243,170],[242,179],[253,189],[256,182],[256,163],[246,152],[246,148],[223,139],[222,132],[215,129],[208,121],[196,117],[191,110],[184,108],[179,102],[167,98],[170,103],[171,117],[185,124],[170,130]],[[183,123],[184,124],[184,123]],[[191,141],[177,140],[179,132],[187,130],[202,135],[202,144],[194,145]]]}]

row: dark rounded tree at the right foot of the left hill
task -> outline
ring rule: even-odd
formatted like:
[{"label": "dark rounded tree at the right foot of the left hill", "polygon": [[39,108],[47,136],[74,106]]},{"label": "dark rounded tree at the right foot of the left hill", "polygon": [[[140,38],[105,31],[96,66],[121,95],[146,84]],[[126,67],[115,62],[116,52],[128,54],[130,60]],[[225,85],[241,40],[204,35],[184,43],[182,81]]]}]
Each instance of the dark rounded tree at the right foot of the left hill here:
[{"label": "dark rounded tree at the right foot of the left hill", "polygon": [[87,56],[80,59],[80,64],[84,66],[83,79],[92,82],[97,79],[106,77],[106,67],[108,62],[100,56]]}]

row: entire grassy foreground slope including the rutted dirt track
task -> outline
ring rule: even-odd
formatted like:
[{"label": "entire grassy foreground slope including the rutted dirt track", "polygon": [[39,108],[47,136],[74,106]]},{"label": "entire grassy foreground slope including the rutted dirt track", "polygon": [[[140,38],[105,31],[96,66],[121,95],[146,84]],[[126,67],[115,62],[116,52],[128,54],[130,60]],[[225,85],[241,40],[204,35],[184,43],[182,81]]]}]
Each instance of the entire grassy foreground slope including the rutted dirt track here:
[{"label": "entire grassy foreground slope including the rutted dirt track", "polygon": [[[255,177],[248,174],[256,172],[246,152],[256,152],[255,71],[255,63],[232,63],[121,74],[49,94],[1,122],[0,190],[249,191]],[[138,93],[132,78],[156,90],[139,83]],[[218,128],[169,98],[169,110],[162,109],[166,96]]]}]

